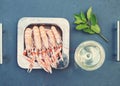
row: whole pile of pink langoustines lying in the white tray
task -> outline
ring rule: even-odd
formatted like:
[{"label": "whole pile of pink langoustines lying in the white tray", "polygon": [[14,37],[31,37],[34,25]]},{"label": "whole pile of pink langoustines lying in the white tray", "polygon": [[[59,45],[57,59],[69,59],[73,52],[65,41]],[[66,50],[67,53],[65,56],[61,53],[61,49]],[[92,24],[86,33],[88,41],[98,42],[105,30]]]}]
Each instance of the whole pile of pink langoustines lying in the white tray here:
[{"label": "whole pile of pink langoustines lying in the white tray", "polygon": [[56,26],[46,28],[44,25],[27,27],[24,32],[25,49],[23,55],[29,62],[28,72],[35,62],[46,72],[52,73],[62,58],[62,38]]}]

